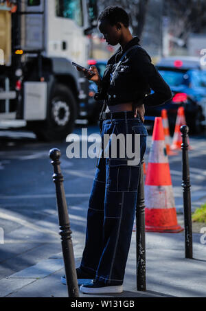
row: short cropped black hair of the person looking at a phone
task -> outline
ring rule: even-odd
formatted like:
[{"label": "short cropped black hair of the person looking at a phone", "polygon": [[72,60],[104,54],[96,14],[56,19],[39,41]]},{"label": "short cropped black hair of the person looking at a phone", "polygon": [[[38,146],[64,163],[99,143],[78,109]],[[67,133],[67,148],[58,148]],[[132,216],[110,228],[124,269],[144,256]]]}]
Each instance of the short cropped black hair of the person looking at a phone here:
[{"label": "short cropped black hair of the person looking at a phone", "polygon": [[129,26],[129,16],[127,12],[117,5],[109,5],[104,11],[100,13],[98,21],[107,20],[111,26],[118,22],[123,23],[124,27]]}]

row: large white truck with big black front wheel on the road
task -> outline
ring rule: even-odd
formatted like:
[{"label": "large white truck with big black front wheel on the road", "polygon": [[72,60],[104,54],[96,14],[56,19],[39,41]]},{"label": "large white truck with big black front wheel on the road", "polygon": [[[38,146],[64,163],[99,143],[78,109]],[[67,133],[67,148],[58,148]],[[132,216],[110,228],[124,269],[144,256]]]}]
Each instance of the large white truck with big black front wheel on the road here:
[{"label": "large white truck with big black front wheel on the road", "polygon": [[0,0],[0,120],[22,119],[39,139],[64,139],[87,106],[96,0]]}]

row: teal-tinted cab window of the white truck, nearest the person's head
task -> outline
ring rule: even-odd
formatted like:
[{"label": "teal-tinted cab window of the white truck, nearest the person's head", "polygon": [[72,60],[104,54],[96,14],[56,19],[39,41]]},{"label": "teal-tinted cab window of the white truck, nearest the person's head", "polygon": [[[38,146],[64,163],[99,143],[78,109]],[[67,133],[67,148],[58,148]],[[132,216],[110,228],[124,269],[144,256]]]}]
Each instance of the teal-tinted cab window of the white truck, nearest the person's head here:
[{"label": "teal-tinted cab window of the white truck, nearest the person's head", "polygon": [[82,1],[81,0],[56,0],[56,16],[73,19],[82,27]]}]

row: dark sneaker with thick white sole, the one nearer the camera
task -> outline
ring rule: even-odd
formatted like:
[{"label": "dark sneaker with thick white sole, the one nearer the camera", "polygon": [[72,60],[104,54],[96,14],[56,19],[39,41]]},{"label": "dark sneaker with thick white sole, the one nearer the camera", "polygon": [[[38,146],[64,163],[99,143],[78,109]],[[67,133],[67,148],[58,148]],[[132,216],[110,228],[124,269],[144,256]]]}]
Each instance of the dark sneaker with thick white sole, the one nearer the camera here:
[{"label": "dark sneaker with thick white sole, the one nearer the camera", "polygon": [[97,279],[93,279],[87,284],[82,284],[80,291],[84,294],[120,294],[123,292],[123,286],[106,285]]}]

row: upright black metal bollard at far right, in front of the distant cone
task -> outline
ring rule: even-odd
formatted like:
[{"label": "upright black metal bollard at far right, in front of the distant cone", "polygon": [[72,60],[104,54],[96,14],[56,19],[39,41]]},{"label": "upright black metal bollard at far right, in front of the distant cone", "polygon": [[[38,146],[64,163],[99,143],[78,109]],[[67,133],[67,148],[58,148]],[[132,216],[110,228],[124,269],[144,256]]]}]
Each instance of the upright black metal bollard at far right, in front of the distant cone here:
[{"label": "upright black metal bollard at far right, in front of the distant cone", "polygon": [[183,204],[184,204],[184,220],[185,220],[185,258],[192,258],[192,214],[191,214],[191,196],[190,196],[190,170],[188,160],[188,143],[187,133],[189,128],[186,125],[181,126],[181,136],[183,143],[181,144],[182,152],[182,171],[183,171]]}]

